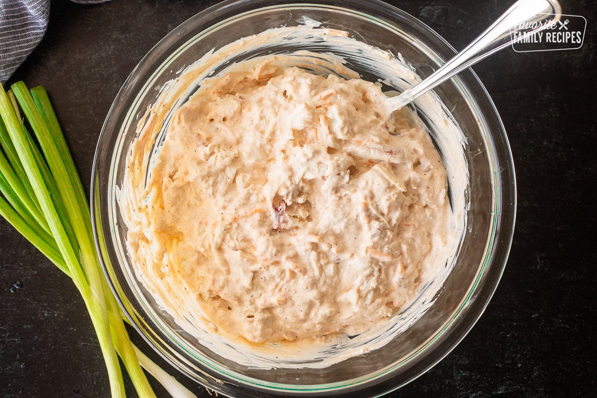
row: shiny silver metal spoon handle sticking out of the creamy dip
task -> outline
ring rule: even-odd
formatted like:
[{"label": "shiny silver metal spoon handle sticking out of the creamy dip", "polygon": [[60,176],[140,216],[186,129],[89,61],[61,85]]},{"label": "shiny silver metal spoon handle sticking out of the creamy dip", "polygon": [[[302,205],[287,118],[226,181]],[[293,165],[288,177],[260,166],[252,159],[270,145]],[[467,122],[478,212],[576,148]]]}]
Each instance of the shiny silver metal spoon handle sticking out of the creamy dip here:
[{"label": "shiny silver metal spoon handle sticking out of the creamy dip", "polygon": [[[562,8],[557,0],[518,0],[464,50],[454,55],[416,86],[396,97],[389,98],[387,105],[390,109],[400,109],[419,95],[450,79],[456,73],[510,45],[512,43],[511,33],[538,32],[549,26],[550,23],[556,23],[561,13]],[[528,29],[528,27],[521,26],[521,23],[525,22],[537,23],[538,27]]]}]

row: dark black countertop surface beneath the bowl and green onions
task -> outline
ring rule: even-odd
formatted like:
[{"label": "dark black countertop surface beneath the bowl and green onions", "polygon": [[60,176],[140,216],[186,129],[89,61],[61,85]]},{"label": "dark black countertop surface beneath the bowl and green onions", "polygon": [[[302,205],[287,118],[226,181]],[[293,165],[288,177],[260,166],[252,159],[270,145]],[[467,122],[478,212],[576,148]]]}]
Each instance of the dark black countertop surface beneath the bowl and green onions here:
[{"label": "dark black countertop surface beneath the bowl and green onions", "polygon": [[[392,1],[463,48],[512,1]],[[595,396],[597,64],[593,2],[580,50],[506,49],[473,69],[503,118],[518,178],[518,220],[484,315],[435,368],[391,397]],[[14,74],[53,99],[84,184],[112,100],[166,33],[214,2],[53,1],[47,35]],[[20,286],[20,288],[17,288]],[[141,344],[140,338],[136,338]],[[142,344],[141,344],[142,345]],[[153,359],[174,369],[144,347]],[[199,397],[205,388],[177,378]],[[151,380],[151,379],[150,379]],[[167,393],[155,382],[159,397]],[[125,376],[130,396],[135,396]],[[96,336],[70,280],[0,220],[0,391],[4,397],[107,397]]]}]

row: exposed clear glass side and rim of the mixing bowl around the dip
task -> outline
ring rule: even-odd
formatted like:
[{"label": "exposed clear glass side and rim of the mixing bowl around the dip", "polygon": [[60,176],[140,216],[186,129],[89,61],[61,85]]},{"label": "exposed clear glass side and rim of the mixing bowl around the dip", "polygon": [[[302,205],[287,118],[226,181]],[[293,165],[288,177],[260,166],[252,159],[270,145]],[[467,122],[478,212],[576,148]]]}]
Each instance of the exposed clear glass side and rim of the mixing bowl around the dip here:
[{"label": "exposed clear glass side and rim of the mixing bowl around the dip", "polygon": [[[497,110],[472,70],[435,90],[466,137],[461,150],[470,205],[460,249],[432,306],[382,348],[322,369],[264,371],[238,365],[202,346],[156,306],[137,280],[125,249],[127,230],[116,201],[118,187],[137,123],[160,88],[208,51],[270,27],[297,25],[304,21],[301,17],[401,53],[421,78],[455,54],[421,21],[380,1],[241,0],[208,8],[162,39],[133,70],[112,104],[97,145],[91,184],[97,248],[110,286],[137,331],[168,362],[206,387],[234,397],[379,396],[423,374],[463,339],[487,306],[506,264],[516,209],[512,156]],[[259,54],[245,57],[255,55]],[[358,62],[350,67],[368,80],[377,77],[359,70]]]}]

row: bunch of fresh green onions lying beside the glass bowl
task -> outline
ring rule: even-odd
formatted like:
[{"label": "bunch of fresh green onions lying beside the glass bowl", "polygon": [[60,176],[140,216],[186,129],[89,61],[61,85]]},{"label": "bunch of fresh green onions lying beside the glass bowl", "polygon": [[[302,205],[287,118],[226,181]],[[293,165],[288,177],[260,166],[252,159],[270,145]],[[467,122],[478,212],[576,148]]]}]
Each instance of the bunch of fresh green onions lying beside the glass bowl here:
[{"label": "bunch of fresh green onions lying beside the glass bowl", "polygon": [[131,343],[101,271],[85,191],[44,88],[29,91],[17,82],[7,93],[0,85],[0,115],[0,215],[75,283],[96,330],[112,397],[125,397],[118,357],[140,397],[155,397],[141,363],[173,396],[194,397]]}]

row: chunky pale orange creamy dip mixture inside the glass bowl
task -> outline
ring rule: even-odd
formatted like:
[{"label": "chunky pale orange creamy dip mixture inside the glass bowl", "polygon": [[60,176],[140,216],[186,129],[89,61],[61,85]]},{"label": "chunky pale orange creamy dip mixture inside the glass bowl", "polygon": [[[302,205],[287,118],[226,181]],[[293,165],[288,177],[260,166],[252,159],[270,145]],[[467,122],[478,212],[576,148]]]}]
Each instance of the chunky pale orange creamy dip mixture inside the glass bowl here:
[{"label": "chunky pale orange creamy dip mixture inside the glass bowl", "polygon": [[445,267],[447,173],[378,85],[277,57],[206,79],[121,211],[136,273],[175,319],[323,344],[389,322]]}]

